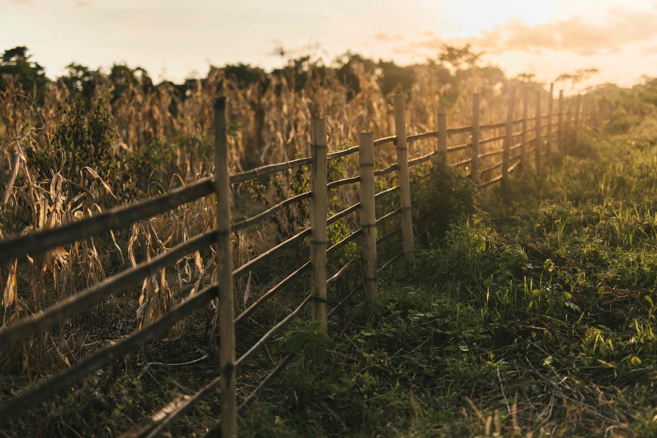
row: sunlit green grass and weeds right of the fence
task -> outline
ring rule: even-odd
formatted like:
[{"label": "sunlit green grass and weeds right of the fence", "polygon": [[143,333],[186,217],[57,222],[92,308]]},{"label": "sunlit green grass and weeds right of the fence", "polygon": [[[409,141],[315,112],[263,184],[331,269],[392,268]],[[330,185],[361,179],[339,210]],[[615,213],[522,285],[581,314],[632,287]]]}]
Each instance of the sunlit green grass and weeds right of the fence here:
[{"label": "sunlit green grass and weeds right of the fence", "polygon": [[[244,436],[655,436],[657,122],[584,132],[330,326]],[[430,239],[429,239],[430,241]],[[354,304],[356,306],[356,304]],[[294,339],[300,328],[290,329]]]}]

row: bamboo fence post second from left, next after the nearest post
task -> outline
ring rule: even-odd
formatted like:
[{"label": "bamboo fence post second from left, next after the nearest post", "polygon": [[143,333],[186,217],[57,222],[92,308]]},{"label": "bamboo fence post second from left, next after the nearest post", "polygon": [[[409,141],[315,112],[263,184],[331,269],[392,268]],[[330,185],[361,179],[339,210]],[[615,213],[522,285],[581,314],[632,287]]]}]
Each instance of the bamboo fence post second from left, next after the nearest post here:
[{"label": "bamboo fence post second from left, next after the nearest post", "polygon": [[312,318],[328,333],[327,324],[327,122],[310,120],[310,294]]}]

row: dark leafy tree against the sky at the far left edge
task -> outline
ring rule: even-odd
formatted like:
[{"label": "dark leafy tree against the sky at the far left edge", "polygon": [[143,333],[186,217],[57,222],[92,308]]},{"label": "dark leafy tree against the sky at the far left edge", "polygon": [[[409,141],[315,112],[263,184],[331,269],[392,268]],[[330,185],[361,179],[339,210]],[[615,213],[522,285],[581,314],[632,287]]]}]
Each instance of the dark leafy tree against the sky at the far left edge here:
[{"label": "dark leafy tree against the sky at the far left edge", "polygon": [[48,85],[45,69],[41,64],[30,61],[32,55],[24,45],[6,50],[0,59],[0,91],[5,91],[9,84],[17,82],[26,93],[36,89],[36,99],[43,103]]}]

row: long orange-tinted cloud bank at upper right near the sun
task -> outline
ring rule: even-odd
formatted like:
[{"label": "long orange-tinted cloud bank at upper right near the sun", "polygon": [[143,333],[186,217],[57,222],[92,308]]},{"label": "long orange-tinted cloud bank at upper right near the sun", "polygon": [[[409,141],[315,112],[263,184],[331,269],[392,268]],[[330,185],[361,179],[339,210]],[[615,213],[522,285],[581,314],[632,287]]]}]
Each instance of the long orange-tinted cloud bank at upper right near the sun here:
[{"label": "long orange-tinted cloud bank at upper right near the sun", "polygon": [[[540,53],[543,50],[572,51],[591,56],[618,53],[624,45],[643,43],[657,36],[657,12],[614,9],[602,23],[589,22],[580,16],[529,26],[512,18],[501,26],[480,32],[479,36],[453,39],[449,44],[470,43],[476,50],[499,54],[507,51]],[[413,41],[397,47],[399,53],[440,51],[445,43],[438,37]]]}]

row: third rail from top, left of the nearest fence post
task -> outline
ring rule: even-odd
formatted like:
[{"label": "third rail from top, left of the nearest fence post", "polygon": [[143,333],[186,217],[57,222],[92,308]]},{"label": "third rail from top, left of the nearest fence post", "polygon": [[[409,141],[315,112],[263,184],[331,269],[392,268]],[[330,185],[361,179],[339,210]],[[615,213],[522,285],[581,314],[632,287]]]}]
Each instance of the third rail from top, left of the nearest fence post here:
[{"label": "third rail from top, left of the nearest fence post", "polygon": [[124,337],[117,343],[105,347],[101,351],[81,360],[72,368],[60,372],[57,376],[47,379],[34,388],[19,393],[14,399],[0,406],[0,426],[7,424],[12,418],[37,406],[45,399],[71,387],[83,377],[106,366],[112,360],[125,356],[125,354],[145,345],[145,343],[151,341],[166,329],[171,328],[173,324],[179,322],[182,318],[189,316],[194,310],[210,303],[215,297],[217,297],[217,285],[206,287],[206,289],[175,306],[150,326],[135,331],[135,333]]}]

